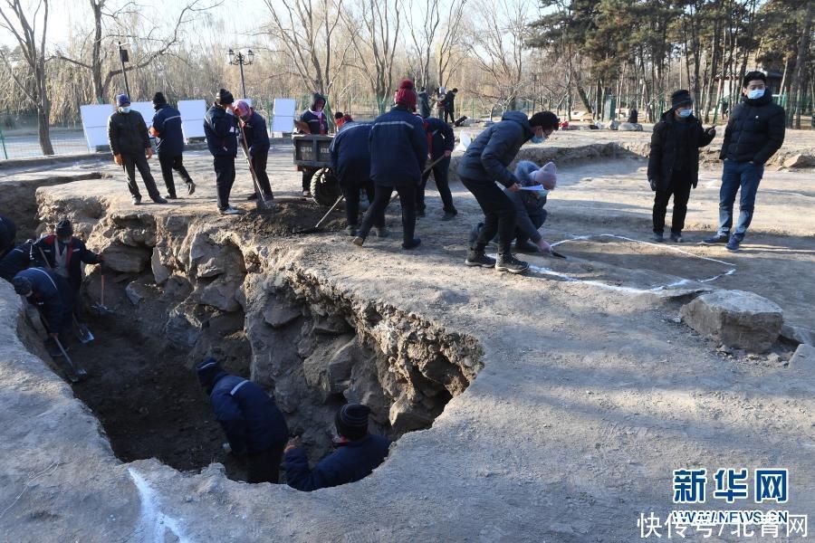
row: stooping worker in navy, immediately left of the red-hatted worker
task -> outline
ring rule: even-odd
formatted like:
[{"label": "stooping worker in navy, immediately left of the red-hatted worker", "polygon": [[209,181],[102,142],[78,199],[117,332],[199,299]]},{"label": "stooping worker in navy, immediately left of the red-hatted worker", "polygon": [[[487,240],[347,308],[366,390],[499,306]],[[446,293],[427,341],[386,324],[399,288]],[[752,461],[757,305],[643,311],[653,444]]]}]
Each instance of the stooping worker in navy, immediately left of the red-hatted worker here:
[{"label": "stooping worker in navy, immediately left of the red-hatted worker", "polygon": [[[345,196],[345,216],[348,226],[345,232],[357,235],[357,224],[360,218],[360,189],[365,189],[370,202],[374,199],[374,186],[370,180],[370,149],[368,139],[371,125],[359,123],[350,115],[337,119],[339,132],[331,141],[331,169],[337,175]],[[385,229],[385,211],[374,220],[375,232],[379,237],[387,235]]]}]

